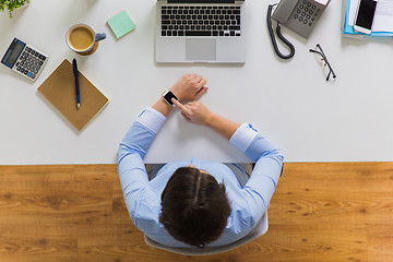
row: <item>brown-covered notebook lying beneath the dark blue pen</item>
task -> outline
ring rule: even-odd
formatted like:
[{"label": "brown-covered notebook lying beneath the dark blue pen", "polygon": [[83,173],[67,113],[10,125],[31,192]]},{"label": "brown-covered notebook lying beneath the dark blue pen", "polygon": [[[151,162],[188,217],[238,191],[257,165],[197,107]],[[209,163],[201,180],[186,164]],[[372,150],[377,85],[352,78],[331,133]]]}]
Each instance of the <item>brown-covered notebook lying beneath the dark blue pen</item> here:
[{"label": "brown-covered notebook lying beneath the dark blue pen", "polygon": [[109,99],[81,72],[79,72],[79,83],[81,107],[78,109],[72,64],[64,59],[37,91],[81,131],[108,105]]}]

